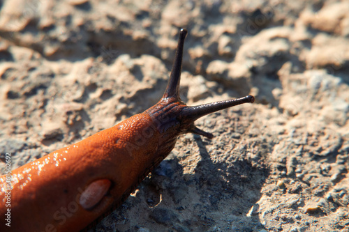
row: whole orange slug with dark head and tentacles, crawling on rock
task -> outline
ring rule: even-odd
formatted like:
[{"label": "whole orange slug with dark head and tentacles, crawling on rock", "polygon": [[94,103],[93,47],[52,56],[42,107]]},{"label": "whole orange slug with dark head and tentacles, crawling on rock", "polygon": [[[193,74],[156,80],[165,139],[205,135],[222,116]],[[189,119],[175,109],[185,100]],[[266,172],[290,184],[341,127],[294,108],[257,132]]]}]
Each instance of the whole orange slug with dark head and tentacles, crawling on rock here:
[{"label": "whole orange slug with dark head and tentacles, crawling on rock", "polygon": [[[154,107],[0,176],[0,231],[80,231],[119,206],[174,148],[180,134],[211,138],[201,116],[253,96],[188,107],[178,95],[186,30],[181,29],[168,88]],[[10,191],[10,207],[6,206]],[[10,209],[10,227],[6,212]],[[5,218],[4,218],[5,217]]]}]

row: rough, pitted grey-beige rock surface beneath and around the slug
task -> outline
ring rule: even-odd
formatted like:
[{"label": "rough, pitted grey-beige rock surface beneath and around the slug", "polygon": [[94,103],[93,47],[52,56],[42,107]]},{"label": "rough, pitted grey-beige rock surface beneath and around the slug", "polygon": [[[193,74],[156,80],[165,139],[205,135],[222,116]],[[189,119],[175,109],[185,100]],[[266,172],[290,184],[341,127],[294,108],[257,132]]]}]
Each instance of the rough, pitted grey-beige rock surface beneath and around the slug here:
[{"label": "rough, pitted grey-beige rock surface beneath and around the slug", "polygon": [[214,139],[181,136],[90,231],[349,231],[348,12],[347,0],[0,1],[1,157],[20,167],[154,105],[184,27],[182,99],[256,102],[200,119]]}]

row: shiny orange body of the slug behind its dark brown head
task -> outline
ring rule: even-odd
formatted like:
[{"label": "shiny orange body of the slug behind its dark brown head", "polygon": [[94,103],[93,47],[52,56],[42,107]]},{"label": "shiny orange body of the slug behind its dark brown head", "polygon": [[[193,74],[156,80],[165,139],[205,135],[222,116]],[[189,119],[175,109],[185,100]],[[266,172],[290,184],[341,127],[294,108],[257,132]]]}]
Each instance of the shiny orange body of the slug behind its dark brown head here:
[{"label": "shiny orange body of the slug behind its dark brown head", "polygon": [[[13,170],[11,226],[4,223],[6,197],[1,191],[0,231],[83,229],[108,206],[121,201],[124,192],[137,185],[151,167],[159,140],[151,125],[150,116],[138,114]],[[147,128],[154,128],[151,137],[142,134]],[[0,177],[1,188],[5,179]],[[111,189],[95,208],[85,210],[80,206],[80,194],[98,179],[111,180]]]}]

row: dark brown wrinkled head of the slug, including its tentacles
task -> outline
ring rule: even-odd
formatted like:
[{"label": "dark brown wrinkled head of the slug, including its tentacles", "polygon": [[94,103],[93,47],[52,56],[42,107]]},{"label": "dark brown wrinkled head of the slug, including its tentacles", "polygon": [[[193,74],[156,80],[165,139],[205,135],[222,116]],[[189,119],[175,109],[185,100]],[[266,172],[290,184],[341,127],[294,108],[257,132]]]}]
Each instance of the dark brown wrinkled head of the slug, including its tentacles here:
[{"label": "dark brown wrinkled head of the slug, including its tentacles", "polygon": [[244,98],[212,102],[194,107],[187,106],[179,97],[181,63],[183,59],[184,40],[187,33],[188,31],[186,29],[181,29],[179,32],[177,52],[163,98],[154,107],[144,111],[144,113],[149,114],[153,118],[158,131],[161,133],[162,140],[167,140],[168,142],[177,140],[179,134],[185,133],[200,134],[211,139],[213,134],[196,127],[194,125],[195,120],[221,109],[243,103],[253,103],[255,100],[253,96],[248,95]]}]

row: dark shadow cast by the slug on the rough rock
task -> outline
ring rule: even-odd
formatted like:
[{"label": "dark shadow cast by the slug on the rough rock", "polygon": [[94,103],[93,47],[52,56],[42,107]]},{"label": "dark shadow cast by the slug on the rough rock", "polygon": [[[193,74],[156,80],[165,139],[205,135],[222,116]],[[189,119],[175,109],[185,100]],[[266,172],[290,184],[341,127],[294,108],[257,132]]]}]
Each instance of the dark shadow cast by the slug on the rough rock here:
[{"label": "dark shadow cast by the slug on the rough rock", "polygon": [[248,212],[258,208],[255,203],[269,170],[253,167],[239,157],[213,162],[208,142],[198,135],[194,140],[201,157],[193,173],[184,173],[179,158],[170,154],[144,179],[135,197],[98,224],[96,231],[138,231],[142,227],[149,231],[211,231],[214,226],[222,231],[263,229],[258,215]]}]

